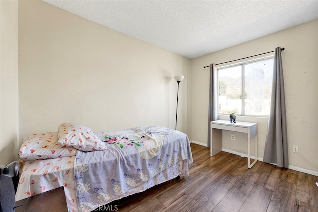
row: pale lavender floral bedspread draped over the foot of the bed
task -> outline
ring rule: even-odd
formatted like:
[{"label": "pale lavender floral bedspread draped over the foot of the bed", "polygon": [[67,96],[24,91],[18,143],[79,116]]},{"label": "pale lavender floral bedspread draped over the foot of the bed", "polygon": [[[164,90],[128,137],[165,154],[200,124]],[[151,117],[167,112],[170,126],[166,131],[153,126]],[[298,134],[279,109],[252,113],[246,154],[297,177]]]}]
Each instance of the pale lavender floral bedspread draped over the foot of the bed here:
[{"label": "pale lavender floral bedspread draped over the foot of the bed", "polygon": [[74,162],[79,211],[142,192],[184,173],[193,163],[186,134],[159,126],[95,133],[108,150],[80,152]]}]

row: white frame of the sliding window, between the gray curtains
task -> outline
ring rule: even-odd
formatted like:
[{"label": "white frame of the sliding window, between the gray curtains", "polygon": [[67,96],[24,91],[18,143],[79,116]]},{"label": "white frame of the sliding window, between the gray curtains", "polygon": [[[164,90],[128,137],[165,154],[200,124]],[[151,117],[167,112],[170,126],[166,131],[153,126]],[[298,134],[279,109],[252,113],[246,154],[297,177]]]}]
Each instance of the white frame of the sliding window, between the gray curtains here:
[{"label": "white frame of the sliding window, between the gray curtains", "polygon": [[[240,62],[237,62],[237,63],[233,63],[233,64],[229,64],[229,65],[222,65],[222,66],[217,66],[216,65],[216,77],[217,77],[217,86],[216,86],[216,89],[217,89],[217,94],[218,94],[218,97],[217,97],[217,106],[218,106],[218,115],[229,115],[230,113],[219,113],[219,69],[224,69],[224,68],[230,68],[230,67],[233,67],[233,66],[242,66],[241,68],[241,91],[242,91],[242,111],[241,111],[241,114],[235,114],[236,116],[246,116],[246,117],[269,117],[269,114],[268,115],[246,115],[245,114],[245,65],[247,64],[251,64],[251,63],[255,63],[255,62],[258,62],[258,61],[262,61],[262,60],[268,60],[268,59],[272,59],[274,60],[274,54],[270,54],[270,55],[267,55],[267,56],[263,56],[263,57],[259,57],[259,58],[255,58],[255,59],[252,59],[252,60],[245,60],[245,61],[240,61]],[[214,88],[215,89],[215,88]]]}]

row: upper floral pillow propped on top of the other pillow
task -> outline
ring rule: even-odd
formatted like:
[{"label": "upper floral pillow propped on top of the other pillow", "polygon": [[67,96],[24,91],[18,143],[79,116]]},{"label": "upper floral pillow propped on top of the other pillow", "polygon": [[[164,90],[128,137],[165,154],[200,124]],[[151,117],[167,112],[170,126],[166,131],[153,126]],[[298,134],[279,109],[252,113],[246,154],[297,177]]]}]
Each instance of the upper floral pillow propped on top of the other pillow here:
[{"label": "upper floral pillow propped on top of the other pillow", "polygon": [[76,123],[63,123],[58,128],[58,143],[62,146],[72,146],[78,150],[89,152],[106,150],[106,144],[94,132]]}]

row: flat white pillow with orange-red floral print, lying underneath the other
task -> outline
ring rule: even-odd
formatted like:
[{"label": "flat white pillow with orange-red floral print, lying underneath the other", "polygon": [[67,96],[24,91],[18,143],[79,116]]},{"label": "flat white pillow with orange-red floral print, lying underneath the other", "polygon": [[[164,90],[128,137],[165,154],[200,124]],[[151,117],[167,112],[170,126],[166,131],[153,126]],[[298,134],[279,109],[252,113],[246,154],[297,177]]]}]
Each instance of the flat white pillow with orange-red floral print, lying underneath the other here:
[{"label": "flat white pillow with orange-red floral print, lying underneath the other", "polygon": [[57,132],[45,132],[26,136],[22,140],[20,158],[25,160],[37,160],[76,155],[75,148],[63,147],[57,142]]}]

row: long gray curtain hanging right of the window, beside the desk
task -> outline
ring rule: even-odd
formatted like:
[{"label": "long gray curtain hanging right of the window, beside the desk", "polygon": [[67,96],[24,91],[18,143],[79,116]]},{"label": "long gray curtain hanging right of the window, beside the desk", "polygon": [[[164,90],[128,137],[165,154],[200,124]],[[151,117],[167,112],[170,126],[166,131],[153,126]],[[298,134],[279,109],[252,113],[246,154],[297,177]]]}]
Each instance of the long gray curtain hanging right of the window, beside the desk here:
[{"label": "long gray curtain hanging right of the window, beside the desk", "polygon": [[264,162],[288,168],[287,126],[281,48],[275,49],[273,85]]}]

